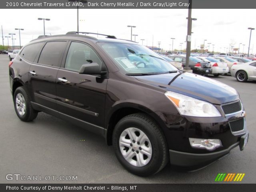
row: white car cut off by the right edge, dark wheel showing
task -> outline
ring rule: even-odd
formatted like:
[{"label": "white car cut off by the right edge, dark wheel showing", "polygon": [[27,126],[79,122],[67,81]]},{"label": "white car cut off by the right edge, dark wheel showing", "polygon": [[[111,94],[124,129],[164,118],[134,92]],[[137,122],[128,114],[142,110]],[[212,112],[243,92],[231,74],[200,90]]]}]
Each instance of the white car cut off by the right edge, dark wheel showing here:
[{"label": "white car cut off by the right edge, dark wheel showing", "polygon": [[231,75],[236,77],[238,82],[246,82],[247,80],[256,80],[256,61],[233,65]]}]

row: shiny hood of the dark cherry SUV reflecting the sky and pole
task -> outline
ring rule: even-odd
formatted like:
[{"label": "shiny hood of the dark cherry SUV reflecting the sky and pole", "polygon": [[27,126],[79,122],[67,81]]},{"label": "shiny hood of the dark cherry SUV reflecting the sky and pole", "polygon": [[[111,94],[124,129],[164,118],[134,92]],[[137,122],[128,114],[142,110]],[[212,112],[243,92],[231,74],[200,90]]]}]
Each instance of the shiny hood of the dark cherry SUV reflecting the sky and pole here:
[{"label": "shiny hood of the dark cherry SUV reflecting the sky and pole", "polygon": [[171,73],[149,76],[136,76],[136,79],[186,96],[223,104],[239,99],[236,90],[222,82],[192,73]]}]

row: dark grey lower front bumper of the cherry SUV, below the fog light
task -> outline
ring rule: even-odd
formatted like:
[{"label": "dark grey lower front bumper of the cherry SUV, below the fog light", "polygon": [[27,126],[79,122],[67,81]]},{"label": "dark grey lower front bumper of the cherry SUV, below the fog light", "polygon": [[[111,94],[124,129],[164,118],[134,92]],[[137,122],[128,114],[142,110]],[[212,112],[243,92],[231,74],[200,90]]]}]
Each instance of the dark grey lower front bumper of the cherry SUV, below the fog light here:
[{"label": "dark grey lower front bumper of the cherry SUV, below the fog light", "polygon": [[203,168],[219,160],[220,158],[226,156],[227,154],[230,153],[230,150],[232,150],[236,146],[240,146],[240,150],[243,150],[244,143],[248,142],[248,136],[249,136],[249,132],[247,131],[246,134],[241,136],[240,141],[232,144],[229,148],[226,148],[218,152],[212,152],[212,153],[206,153],[206,154],[205,153],[195,154],[195,153],[169,150],[170,163],[174,166],[182,166],[192,170]]}]

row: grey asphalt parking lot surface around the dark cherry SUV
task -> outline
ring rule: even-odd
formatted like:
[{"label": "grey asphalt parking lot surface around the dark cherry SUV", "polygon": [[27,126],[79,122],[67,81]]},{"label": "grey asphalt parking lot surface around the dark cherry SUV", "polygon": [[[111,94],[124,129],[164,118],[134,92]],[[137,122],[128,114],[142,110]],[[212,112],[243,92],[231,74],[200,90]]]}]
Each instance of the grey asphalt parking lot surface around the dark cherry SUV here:
[{"label": "grey asphalt parking lot surface around the dark cherry SUV", "polygon": [[154,176],[139,177],[126,171],[104,138],[45,113],[32,122],[16,116],[9,88],[8,58],[0,55],[0,172],[1,183],[33,183],[6,180],[7,174],[26,176],[77,176],[77,180],[37,180],[34,183],[214,183],[218,173],[245,173],[242,183],[255,183],[256,82],[240,83],[230,75],[209,76],[235,88],[246,109],[249,143],[196,172],[181,172],[170,165]]}]

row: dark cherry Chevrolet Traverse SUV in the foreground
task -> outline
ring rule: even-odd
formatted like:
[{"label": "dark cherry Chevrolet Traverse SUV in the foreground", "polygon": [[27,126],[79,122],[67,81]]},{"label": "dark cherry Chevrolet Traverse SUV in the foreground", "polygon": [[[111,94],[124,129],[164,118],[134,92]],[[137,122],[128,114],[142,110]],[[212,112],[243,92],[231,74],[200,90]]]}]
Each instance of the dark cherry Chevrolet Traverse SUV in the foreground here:
[{"label": "dark cherry Chevrolet Traverse SUV in the foreground", "polygon": [[182,72],[145,46],[69,32],[24,46],[9,64],[22,121],[46,112],[100,134],[120,163],[147,176],[198,169],[248,141],[234,88]]}]

